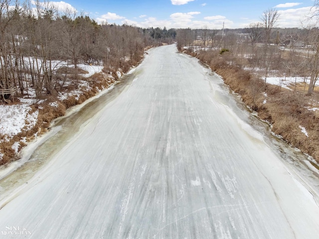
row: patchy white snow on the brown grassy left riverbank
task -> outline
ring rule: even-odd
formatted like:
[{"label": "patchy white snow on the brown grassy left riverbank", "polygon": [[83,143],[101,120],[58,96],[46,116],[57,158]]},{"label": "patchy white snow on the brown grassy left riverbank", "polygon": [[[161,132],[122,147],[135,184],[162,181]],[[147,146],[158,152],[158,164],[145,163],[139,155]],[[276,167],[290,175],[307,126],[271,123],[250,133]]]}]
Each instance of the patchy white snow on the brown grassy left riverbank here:
[{"label": "patchy white snow on the brown grassy left riverbank", "polygon": [[[66,65],[65,62],[53,62],[54,66]],[[69,67],[74,67],[74,65],[68,65]],[[78,64],[78,67],[88,73],[82,76],[88,78],[95,73],[102,71],[103,66]],[[121,75],[121,73],[118,73]],[[79,80],[79,88],[82,90],[89,89],[89,84],[87,81]],[[83,92],[81,90],[73,90],[70,92],[59,93],[58,99],[63,101],[68,97],[75,96],[78,100]],[[32,128],[38,117],[38,111],[32,111],[31,105],[34,103],[40,103],[40,101],[35,99],[35,92],[33,88],[27,89],[27,95],[24,98],[19,98],[20,103],[13,105],[0,105],[0,134],[4,136],[0,140],[9,140],[14,135],[20,133],[22,129],[28,130]],[[50,103],[51,106],[57,107],[57,102]],[[25,142],[25,139],[22,139]],[[12,148],[17,153],[20,143],[16,142],[13,144]],[[2,159],[3,152],[0,148],[0,160]]]}]

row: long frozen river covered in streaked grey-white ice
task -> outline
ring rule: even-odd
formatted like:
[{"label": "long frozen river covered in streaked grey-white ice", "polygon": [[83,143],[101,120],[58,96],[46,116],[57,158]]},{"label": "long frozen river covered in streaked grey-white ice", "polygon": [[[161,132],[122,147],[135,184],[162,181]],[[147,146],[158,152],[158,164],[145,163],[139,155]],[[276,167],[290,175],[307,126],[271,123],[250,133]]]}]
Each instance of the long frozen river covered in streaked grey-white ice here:
[{"label": "long frozen river covered in streaked grey-white ice", "polygon": [[1,238],[318,238],[318,190],[176,51],[150,50],[138,80],[0,201]]}]

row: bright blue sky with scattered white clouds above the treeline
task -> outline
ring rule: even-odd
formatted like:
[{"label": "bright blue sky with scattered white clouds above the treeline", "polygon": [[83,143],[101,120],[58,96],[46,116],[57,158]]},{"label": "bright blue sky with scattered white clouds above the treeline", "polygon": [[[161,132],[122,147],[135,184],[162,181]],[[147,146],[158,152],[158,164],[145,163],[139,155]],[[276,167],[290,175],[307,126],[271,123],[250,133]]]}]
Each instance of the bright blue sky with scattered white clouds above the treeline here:
[{"label": "bright blue sky with scattered white clouds above the treeline", "polygon": [[[41,1],[41,0],[40,0]],[[63,9],[74,8],[99,23],[136,25],[140,27],[221,29],[247,27],[260,21],[263,11],[280,12],[278,26],[300,27],[309,15],[313,0],[65,0],[52,1]]]}]

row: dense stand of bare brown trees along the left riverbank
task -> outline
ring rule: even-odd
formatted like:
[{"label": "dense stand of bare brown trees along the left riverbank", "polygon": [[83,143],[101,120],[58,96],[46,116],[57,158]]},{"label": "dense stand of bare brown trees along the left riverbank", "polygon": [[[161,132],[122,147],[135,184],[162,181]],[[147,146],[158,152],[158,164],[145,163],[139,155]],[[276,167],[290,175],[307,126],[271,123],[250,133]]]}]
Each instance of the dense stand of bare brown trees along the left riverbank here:
[{"label": "dense stand of bare brown trees along the left riverbank", "polygon": [[16,88],[23,95],[31,86],[40,99],[61,90],[72,68],[77,76],[79,63],[125,72],[143,58],[146,47],[171,42],[175,34],[174,29],[98,24],[39,0],[35,6],[0,0],[0,89]]}]

